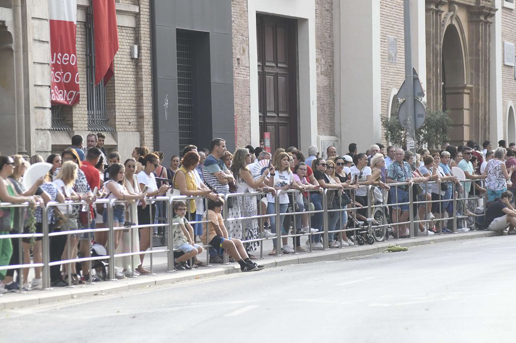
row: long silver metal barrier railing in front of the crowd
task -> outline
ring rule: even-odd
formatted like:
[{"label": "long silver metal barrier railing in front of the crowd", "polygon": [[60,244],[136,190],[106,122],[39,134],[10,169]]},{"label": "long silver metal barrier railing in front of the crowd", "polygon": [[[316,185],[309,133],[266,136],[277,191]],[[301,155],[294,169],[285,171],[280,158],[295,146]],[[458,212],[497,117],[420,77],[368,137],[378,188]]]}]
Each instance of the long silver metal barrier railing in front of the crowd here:
[{"label": "long silver metal barrier railing in front of the crowd", "polygon": [[[472,183],[472,194],[466,194],[465,193],[465,183],[471,182]],[[259,237],[258,238],[249,238],[247,237],[246,230],[243,229],[243,243],[252,243],[252,242],[261,242],[261,248],[260,248],[260,258],[263,258],[263,242],[267,241],[268,239],[272,239],[275,242],[276,246],[276,252],[275,255],[282,255],[282,240],[285,238],[292,237],[294,241],[296,242],[296,239],[298,239],[301,236],[307,236],[308,238],[308,250],[311,252],[313,251],[313,244],[314,242],[321,242],[322,239],[322,250],[329,249],[329,242],[333,241],[333,237],[338,235],[338,241],[340,242],[340,247],[343,247],[342,245],[342,237],[343,234],[346,233],[348,235],[353,236],[353,245],[362,245],[364,242],[367,242],[369,244],[373,244],[373,242],[382,242],[386,241],[389,238],[389,234],[391,234],[391,230],[397,228],[395,230],[395,238],[400,237],[400,227],[405,227],[409,225],[409,236],[410,237],[416,237],[419,235],[420,230],[418,230],[418,225],[422,224],[423,226],[426,224],[428,225],[428,228],[430,228],[430,225],[433,226],[434,223],[440,222],[445,223],[448,220],[452,220],[453,222],[453,231],[454,233],[457,233],[457,222],[458,220],[462,220],[465,218],[471,217],[470,215],[466,215],[466,206],[462,206],[462,209],[460,209],[459,204],[461,202],[472,202],[473,203],[473,209],[475,210],[477,208],[477,204],[483,204],[483,212],[480,214],[473,214],[473,217],[485,215],[486,213],[486,199],[485,196],[482,196],[481,194],[478,194],[478,192],[475,191],[474,182],[478,182],[480,185],[483,185],[483,180],[465,180],[458,182],[461,186],[457,187],[457,182],[455,181],[442,181],[442,182],[436,182],[436,181],[429,181],[428,183],[421,183],[421,186],[423,187],[423,192],[420,195],[420,198],[417,198],[414,195],[414,187],[412,184],[409,184],[407,182],[396,182],[396,183],[390,183],[389,186],[391,187],[391,190],[389,191],[389,195],[386,195],[385,189],[376,186],[376,185],[362,185],[359,187],[360,190],[366,190],[366,196],[359,196],[356,193],[356,190],[348,190],[350,195],[351,202],[348,204],[342,203],[342,197],[337,197],[335,200],[332,201],[331,204],[328,204],[328,192],[333,190],[328,190],[327,188],[324,190],[316,190],[316,191],[304,191],[300,192],[297,190],[278,190],[276,192],[276,196],[274,198],[274,202],[269,203],[268,205],[273,206],[274,213],[266,213],[263,214],[261,210],[261,206],[257,206],[257,213],[253,215],[239,215],[237,217],[231,217],[229,216],[228,211],[228,205],[230,199],[235,197],[254,197],[256,198],[256,201],[261,201],[261,198],[264,197],[267,193],[263,192],[251,192],[251,193],[230,193],[224,195],[224,200],[226,200],[226,205],[223,207],[223,217],[224,217],[224,224],[229,229],[231,222],[242,222],[246,219],[266,219],[266,218],[272,218],[274,217],[275,220],[275,237],[271,238],[265,238],[263,237],[263,227],[260,225],[259,230]],[[429,186],[432,185],[440,185],[442,183],[448,183],[451,184],[451,195],[449,198],[444,197],[441,192],[439,192],[439,197],[437,200],[432,200],[426,198],[426,194],[429,193]],[[377,192],[377,197],[380,199],[375,199],[375,195],[373,192],[375,192],[375,188],[378,188],[381,192]],[[459,189],[457,189],[459,188]],[[408,199],[406,198],[399,198],[399,195],[405,196],[405,193],[396,192],[395,190],[402,190],[406,194],[408,194]],[[433,188],[434,190],[436,188]],[[438,188],[439,190],[440,188]],[[460,191],[460,192],[459,192]],[[286,193],[287,197],[289,197],[289,202],[293,204],[292,212],[283,212],[281,209],[280,204],[280,196],[282,194]],[[303,195],[303,193],[305,195]],[[381,193],[381,196],[379,195]],[[459,194],[461,193],[461,194]],[[363,193],[361,193],[363,194]],[[304,198],[303,198],[304,197]],[[123,258],[125,256],[131,256],[131,269],[132,273],[135,269],[135,262],[133,261],[133,256],[136,255],[150,255],[150,272],[153,273],[153,254],[155,253],[166,253],[167,254],[167,271],[174,271],[174,252],[178,252],[179,249],[173,248],[174,243],[174,234],[173,234],[173,218],[174,218],[174,211],[173,211],[173,203],[175,201],[183,201],[186,202],[187,207],[190,207],[191,201],[199,201],[201,200],[204,202],[204,210],[207,216],[207,208],[208,208],[208,198],[207,197],[197,197],[197,196],[172,196],[172,197],[155,197],[155,198],[146,198],[148,202],[149,207],[149,213],[151,220],[153,219],[152,216],[152,204],[156,202],[163,202],[164,207],[167,208],[167,220],[166,222],[162,224],[138,224],[138,225],[131,225],[131,226],[119,226],[115,227],[114,225],[114,208],[117,204],[127,204],[126,201],[119,201],[116,199],[97,199],[94,203],[95,204],[105,204],[106,208],[105,211],[107,211],[107,222],[104,223],[104,227],[101,228],[91,228],[91,216],[90,211],[88,210],[87,213],[87,228],[82,229],[70,229],[69,222],[65,221],[65,224],[61,228],[57,228],[55,230],[52,230],[49,226],[49,222],[46,220],[48,218],[49,211],[53,211],[53,209],[57,206],[60,207],[66,207],[66,215],[70,215],[70,206],[71,205],[86,205],[84,201],[66,201],[63,203],[51,201],[47,203],[42,208],[42,233],[18,233],[18,234],[4,234],[0,235],[0,239],[7,239],[7,238],[28,238],[28,237],[42,237],[42,257],[43,262],[42,263],[22,263],[22,249],[20,249],[20,264],[17,265],[11,265],[11,266],[0,266],[0,270],[6,270],[6,269],[18,269],[21,271],[23,268],[31,268],[31,267],[42,267],[42,279],[43,279],[43,289],[49,289],[51,286],[51,275],[50,275],[50,269],[52,267],[61,266],[61,265],[67,265],[68,268],[68,282],[69,286],[72,285],[72,278],[71,278],[71,264],[72,263],[88,263],[89,264],[89,275],[90,279],[88,283],[91,283],[91,276],[92,274],[92,262],[96,260],[108,260],[108,275],[110,280],[115,280],[115,259],[116,258]],[[304,200],[306,201],[306,204],[304,203]],[[365,202],[363,205],[360,204],[360,201]],[[299,203],[302,202],[302,207],[299,205]],[[314,205],[314,209],[310,210],[311,204],[314,204],[314,202],[317,203],[317,206]],[[244,201],[242,202],[244,203]],[[429,218],[427,213],[428,207],[432,204],[439,203],[439,206],[441,207],[441,211],[443,216],[441,218]],[[445,203],[451,203],[451,211],[453,213],[449,213],[449,205],[447,208],[445,208]],[[297,205],[296,205],[297,204]],[[308,208],[305,208],[308,204]],[[27,203],[24,204],[10,204],[10,203],[0,203],[1,208],[26,208],[28,206]],[[393,218],[389,213],[391,211],[398,211],[398,207],[405,206],[404,211],[400,212],[409,212],[408,216],[402,217],[399,215],[396,215],[396,218]],[[408,209],[407,209],[408,207]],[[423,208],[421,211],[418,210],[418,207]],[[471,207],[470,207],[471,208]],[[130,212],[131,222],[134,222],[133,218],[135,218],[135,213],[133,213],[133,208],[131,206],[128,206],[126,208],[126,211]],[[191,211],[188,211],[191,212]],[[268,211],[270,212],[270,211]],[[343,213],[346,212],[348,217],[350,218],[347,222],[343,221]],[[241,212],[240,212],[241,213]],[[362,213],[362,214],[361,214]],[[447,213],[445,216],[444,214]],[[365,215],[364,215],[365,214]],[[311,230],[308,230],[308,232],[300,232],[298,229],[299,222],[301,222],[301,226],[303,226],[303,219],[301,217],[301,221],[298,220],[299,216],[308,215],[308,227],[312,228],[313,224],[313,215],[317,215],[317,222],[316,227],[319,229],[317,232],[311,232]],[[322,218],[320,217],[322,215]],[[338,216],[338,219],[335,220],[333,216]],[[292,217],[292,232],[288,232],[288,229],[286,229],[286,233],[281,231],[281,224],[282,224],[282,217],[291,216]],[[329,216],[332,216],[333,220],[331,222],[332,227],[329,227],[330,220]],[[425,218],[426,217],[426,218]],[[404,219],[405,218],[405,219]],[[195,218],[197,219],[197,218]],[[362,219],[362,220],[358,220]],[[364,220],[365,219],[365,220]],[[205,217],[202,218],[202,220],[189,220],[190,224],[202,224],[207,227],[207,223],[209,222],[209,218]],[[337,228],[336,224],[337,222],[340,222],[340,227]],[[333,227],[333,223],[335,223],[335,227]],[[351,225],[348,226],[347,224],[350,223]],[[148,251],[139,251],[134,249],[134,241],[133,241],[133,234],[131,234],[131,248],[130,251],[124,251],[121,253],[115,253],[115,234],[119,230],[139,230],[140,228],[144,227],[163,227],[164,232],[167,234],[166,239],[166,245],[163,248],[155,249],[150,244]],[[443,225],[440,225],[439,232],[442,234],[442,228]],[[472,230],[476,230],[476,221],[473,221],[472,224]],[[84,256],[84,257],[78,257],[78,256],[71,256],[70,255],[70,239],[67,239],[66,244],[68,244],[68,256],[67,259],[61,259],[61,256],[59,258],[55,258],[53,261],[51,261],[50,253],[51,253],[51,241],[53,239],[57,239],[59,236],[66,235],[69,237],[72,234],[82,234],[82,233],[98,233],[98,232],[107,232],[108,233],[108,240],[107,240],[107,254],[102,256]],[[150,242],[152,242],[152,230],[149,230],[150,235]],[[195,243],[195,242],[194,242]],[[206,234],[206,241],[201,242],[202,247],[206,250],[206,260],[209,263],[209,242],[208,242],[208,234]],[[21,245],[21,243],[20,243]],[[21,248],[21,246],[20,246]],[[297,253],[297,244],[294,244],[294,253]],[[225,260],[227,263],[227,260]],[[21,275],[21,273],[20,273]],[[23,277],[22,277],[23,278]],[[21,291],[21,287],[20,287]]]}]

